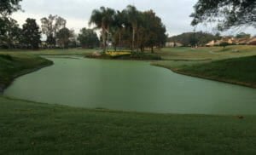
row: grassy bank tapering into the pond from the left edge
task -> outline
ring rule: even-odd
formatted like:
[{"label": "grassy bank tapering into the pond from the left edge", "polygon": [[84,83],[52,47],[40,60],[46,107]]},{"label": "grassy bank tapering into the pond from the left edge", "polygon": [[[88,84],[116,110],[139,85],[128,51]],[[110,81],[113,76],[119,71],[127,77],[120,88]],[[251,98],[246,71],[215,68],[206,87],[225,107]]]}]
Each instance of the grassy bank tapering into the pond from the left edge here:
[{"label": "grassy bank tapering into the pond from the left edge", "polygon": [[15,54],[0,54],[0,92],[3,91],[16,77],[33,72],[44,66],[52,64],[51,61],[45,60],[38,56]]}]

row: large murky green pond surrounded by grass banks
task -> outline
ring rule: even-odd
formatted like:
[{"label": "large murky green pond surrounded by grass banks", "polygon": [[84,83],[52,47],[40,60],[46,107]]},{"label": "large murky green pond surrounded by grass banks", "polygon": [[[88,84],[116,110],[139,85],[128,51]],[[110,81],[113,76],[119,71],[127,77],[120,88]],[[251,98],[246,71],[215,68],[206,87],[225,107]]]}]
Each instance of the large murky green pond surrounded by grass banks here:
[{"label": "large murky green pond surrounded by grass banks", "polygon": [[55,65],[17,78],[4,95],[132,112],[256,114],[256,89],[183,76],[144,61],[46,58]]}]

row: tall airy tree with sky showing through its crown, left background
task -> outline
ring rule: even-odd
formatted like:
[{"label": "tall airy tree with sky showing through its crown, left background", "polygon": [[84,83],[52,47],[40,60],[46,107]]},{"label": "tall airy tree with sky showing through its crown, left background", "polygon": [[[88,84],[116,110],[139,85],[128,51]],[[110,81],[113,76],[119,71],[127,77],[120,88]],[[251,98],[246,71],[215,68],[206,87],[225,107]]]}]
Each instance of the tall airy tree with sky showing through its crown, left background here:
[{"label": "tall airy tree with sky showing through its crown, left background", "polygon": [[49,14],[49,17],[42,18],[42,32],[47,37],[47,44],[54,47],[56,43],[56,33],[66,26],[67,21],[58,15]]}]

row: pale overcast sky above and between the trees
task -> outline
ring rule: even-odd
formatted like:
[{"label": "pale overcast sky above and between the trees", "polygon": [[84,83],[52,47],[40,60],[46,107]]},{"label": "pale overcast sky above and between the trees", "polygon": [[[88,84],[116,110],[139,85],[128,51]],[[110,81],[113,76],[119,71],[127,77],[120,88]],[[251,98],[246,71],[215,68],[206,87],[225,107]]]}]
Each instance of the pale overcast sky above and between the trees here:
[{"label": "pale overcast sky above and between the trees", "polygon": [[[132,4],[142,11],[153,9],[163,20],[169,36],[172,36],[193,31],[189,14],[193,12],[196,2],[197,0],[23,0],[20,4],[24,12],[19,11],[13,14],[13,18],[18,20],[20,25],[28,17],[37,19],[38,25],[41,25],[41,18],[49,14],[58,14],[67,20],[68,28],[79,32],[82,27],[89,27],[88,20],[93,9],[105,6],[122,10],[128,4]],[[212,26],[199,26],[196,30],[212,32]],[[253,28],[242,29],[242,31],[256,34]],[[237,30],[226,32],[226,34],[235,32]]]}]

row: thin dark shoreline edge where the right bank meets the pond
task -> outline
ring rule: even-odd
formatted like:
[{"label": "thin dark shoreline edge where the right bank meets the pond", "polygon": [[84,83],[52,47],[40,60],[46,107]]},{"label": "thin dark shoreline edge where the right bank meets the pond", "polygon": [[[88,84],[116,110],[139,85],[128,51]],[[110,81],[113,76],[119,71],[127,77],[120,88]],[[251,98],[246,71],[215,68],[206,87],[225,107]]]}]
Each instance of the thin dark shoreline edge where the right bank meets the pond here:
[{"label": "thin dark shoreline edge where the right bank meets the pond", "polygon": [[169,66],[162,66],[162,65],[154,64],[154,63],[151,63],[150,65],[163,67],[163,68],[169,69],[172,72],[175,72],[177,74],[181,74],[181,75],[185,75],[185,76],[189,76],[189,77],[204,78],[204,79],[207,79],[207,80],[217,81],[217,82],[221,82],[221,83],[236,84],[236,85],[256,89],[256,85],[252,84],[252,83],[243,83],[243,82],[232,81],[232,80],[228,80],[228,79],[212,78],[212,77],[202,76],[202,75],[199,75],[199,74],[193,74],[193,73],[189,73],[189,72],[182,72],[182,71],[179,71],[177,68],[172,68],[172,67],[169,67]]}]

